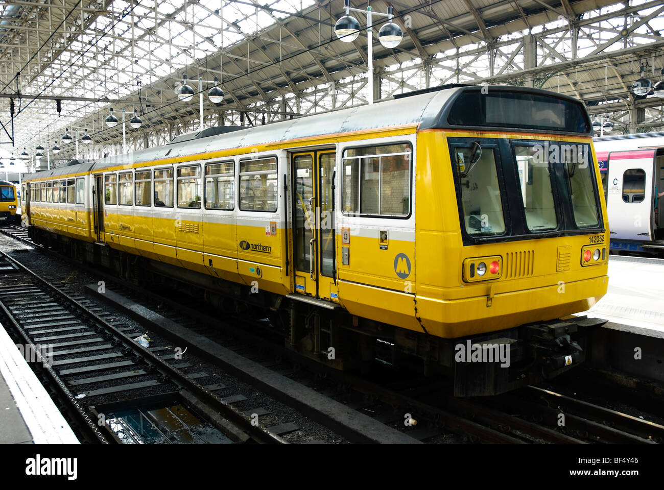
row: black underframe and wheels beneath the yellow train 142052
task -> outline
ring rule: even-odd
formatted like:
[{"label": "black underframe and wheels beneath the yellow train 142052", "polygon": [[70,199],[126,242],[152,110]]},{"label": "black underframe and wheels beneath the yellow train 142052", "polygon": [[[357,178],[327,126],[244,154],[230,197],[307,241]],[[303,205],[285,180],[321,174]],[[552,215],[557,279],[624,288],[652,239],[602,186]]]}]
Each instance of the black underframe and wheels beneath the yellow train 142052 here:
[{"label": "black underframe and wheels beneath the yellow train 142052", "polygon": [[111,270],[128,282],[167,287],[233,315],[269,319],[287,349],[339,370],[367,370],[376,362],[450,380],[455,396],[499,394],[553,378],[586,361],[590,335],[602,319],[566,317],[473,337],[443,339],[347,311],[325,309],[283,295],[139,257],[35,226],[35,242]]}]

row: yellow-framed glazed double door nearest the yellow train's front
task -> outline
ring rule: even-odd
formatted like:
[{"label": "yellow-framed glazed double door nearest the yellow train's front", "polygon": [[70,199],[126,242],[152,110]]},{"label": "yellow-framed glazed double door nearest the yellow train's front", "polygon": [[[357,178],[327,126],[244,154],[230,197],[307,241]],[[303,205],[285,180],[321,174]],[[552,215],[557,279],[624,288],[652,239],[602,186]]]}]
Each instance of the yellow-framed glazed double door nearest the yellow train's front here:
[{"label": "yellow-framed glazed double door nearest the yellow train's front", "polygon": [[291,155],[295,291],[337,299],[335,276],[335,151]]}]

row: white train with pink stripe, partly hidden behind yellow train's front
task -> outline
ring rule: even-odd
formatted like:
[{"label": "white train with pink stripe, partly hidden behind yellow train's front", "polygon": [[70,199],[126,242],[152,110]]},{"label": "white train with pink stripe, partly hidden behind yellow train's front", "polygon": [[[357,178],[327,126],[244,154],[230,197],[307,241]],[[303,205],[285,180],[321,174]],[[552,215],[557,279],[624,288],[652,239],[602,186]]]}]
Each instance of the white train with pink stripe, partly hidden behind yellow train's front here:
[{"label": "white train with pink stripe, partly hidden behind yellow train's front", "polygon": [[594,143],[611,250],[664,254],[664,132],[605,136]]}]

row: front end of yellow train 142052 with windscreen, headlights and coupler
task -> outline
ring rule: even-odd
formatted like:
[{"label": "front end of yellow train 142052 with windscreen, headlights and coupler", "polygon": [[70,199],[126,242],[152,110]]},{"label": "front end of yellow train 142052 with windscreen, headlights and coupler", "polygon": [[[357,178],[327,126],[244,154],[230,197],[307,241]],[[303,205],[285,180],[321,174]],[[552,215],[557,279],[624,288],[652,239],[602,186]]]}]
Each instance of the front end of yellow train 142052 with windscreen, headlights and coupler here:
[{"label": "front end of yellow train 142052 with windscreen, headlights and coupler", "polygon": [[[438,355],[457,396],[505,392],[582,363],[588,333],[604,321],[568,315],[608,286],[606,207],[582,106],[569,100],[556,120],[558,108],[540,99],[546,109],[519,120],[509,107],[519,96],[475,97],[456,114],[453,106],[452,127],[418,138],[417,315],[445,339]],[[505,118],[493,131],[479,119],[489,104],[505,109],[493,113]],[[509,351],[507,362],[487,362],[494,346]]]}]

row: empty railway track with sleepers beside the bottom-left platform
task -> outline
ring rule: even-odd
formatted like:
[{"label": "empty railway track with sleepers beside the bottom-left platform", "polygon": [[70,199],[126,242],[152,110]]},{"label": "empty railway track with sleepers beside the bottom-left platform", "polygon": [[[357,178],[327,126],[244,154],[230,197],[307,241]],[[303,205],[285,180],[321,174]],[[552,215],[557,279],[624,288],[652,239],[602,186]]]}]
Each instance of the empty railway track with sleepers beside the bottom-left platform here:
[{"label": "empty railway track with sleepers beside the bottom-left platform", "polygon": [[[185,374],[190,363],[178,362],[164,347],[142,347],[134,340],[142,333],[136,327],[110,321],[86,297],[70,296],[5,252],[0,256],[15,267],[13,284],[0,286],[3,323],[12,327],[27,360],[39,365],[42,379],[66,401],[84,440],[145,442],[145,435],[126,423],[129,417],[145,417],[161,432],[163,437],[155,434],[159,442],[285,442],[216,396],[220,386],[196,382],[205,372]],[[216,415],[203,423],[185,404],[199,415]],[[112,414],[102,411],[104,406]],[[127,410],[135,413],[114,416]],[[169,416],[177,422],[166,424]],[[214,434],[207,440],[201,437],[210,430]]]}]

